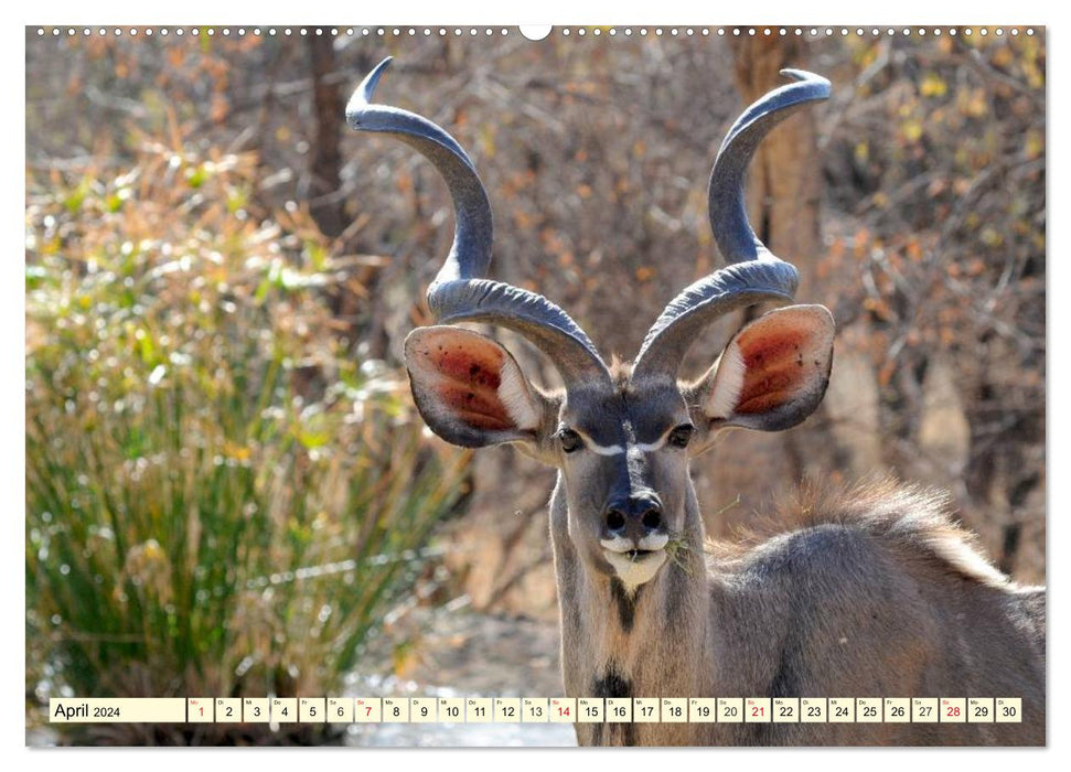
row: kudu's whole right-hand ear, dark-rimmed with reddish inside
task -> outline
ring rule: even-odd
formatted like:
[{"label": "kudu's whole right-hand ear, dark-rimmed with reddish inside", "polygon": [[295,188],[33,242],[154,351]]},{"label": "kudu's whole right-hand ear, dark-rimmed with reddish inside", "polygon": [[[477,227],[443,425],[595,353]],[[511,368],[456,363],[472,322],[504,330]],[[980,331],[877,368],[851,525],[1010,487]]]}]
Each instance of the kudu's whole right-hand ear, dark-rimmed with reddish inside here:
[{"label": "kudu's whole right-hand ear, dark-rimmed with reddish inside", "polygon": [[694,386],[693,404],[711,429],[789,429],[825,396],[833,366],[833,315],[823,305],[789,305],[740,330]]}]

